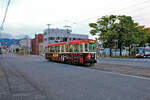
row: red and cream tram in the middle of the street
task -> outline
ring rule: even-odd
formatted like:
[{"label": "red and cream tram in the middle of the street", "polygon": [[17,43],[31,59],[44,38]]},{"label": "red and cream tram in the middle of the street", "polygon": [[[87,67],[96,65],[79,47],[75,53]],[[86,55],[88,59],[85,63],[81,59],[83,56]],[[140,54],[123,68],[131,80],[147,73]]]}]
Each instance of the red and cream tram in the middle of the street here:
[{"label": "red and cream tram in the middle of the street", "polygon": [[45,58],[69,64],[96,63],[96,41],[73,40],[46,45]]}]

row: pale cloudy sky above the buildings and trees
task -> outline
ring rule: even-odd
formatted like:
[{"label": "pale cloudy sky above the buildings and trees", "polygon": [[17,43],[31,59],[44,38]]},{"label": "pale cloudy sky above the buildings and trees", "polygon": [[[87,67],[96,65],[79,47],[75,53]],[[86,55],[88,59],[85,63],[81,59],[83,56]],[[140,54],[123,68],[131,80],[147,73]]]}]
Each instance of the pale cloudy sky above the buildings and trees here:
[{"label": "pale cloudy sky above the buildings and trees", "polygon": [[[0,23],[8,0],[0,0]],[[71,26],[72,33],[90,35],[89,23],[105,15],[132,16],[150,27],[150,0],[11,0],[4,33],[12,36],[43,33],[50,28]],[[91,36],[90,36],[91,37]]]}]

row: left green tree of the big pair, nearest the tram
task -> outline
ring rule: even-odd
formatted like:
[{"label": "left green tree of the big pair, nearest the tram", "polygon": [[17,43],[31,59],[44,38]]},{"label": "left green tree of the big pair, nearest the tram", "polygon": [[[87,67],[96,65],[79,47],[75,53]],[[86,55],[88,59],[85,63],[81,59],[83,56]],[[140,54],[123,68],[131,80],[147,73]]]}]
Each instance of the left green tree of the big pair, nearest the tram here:
[{"label": "left green tree of the big pair, nearest the tram", "polygon": [[115,42],[116,33],[113,32],[115,28],[115,21],[117,16],[103,16],[99,18],[96,23],[90,23],[89,26],[92,28],[90,33],[92,35],[96,35],[98,33],[99,39],[103,41],[104,48],[110,48],[110,56],[111,56],[111,49],[113,48]]}]

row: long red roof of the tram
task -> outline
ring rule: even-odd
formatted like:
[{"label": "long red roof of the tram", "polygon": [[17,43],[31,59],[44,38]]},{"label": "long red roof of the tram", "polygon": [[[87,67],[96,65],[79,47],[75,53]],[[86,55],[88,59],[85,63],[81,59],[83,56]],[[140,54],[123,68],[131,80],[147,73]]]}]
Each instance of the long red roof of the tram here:
[{"label": "long red roof of the tram", "polygon": [[53,43],[53,44],[48,44],[46,45],[46,47],[48,46],[58,46],[58,45],[64,45],[64,44],[74,44],[74,43],[95,43],[95,40],[72,40],[72,41],[68,41],[68,42],[58,42],[58,43]]}]

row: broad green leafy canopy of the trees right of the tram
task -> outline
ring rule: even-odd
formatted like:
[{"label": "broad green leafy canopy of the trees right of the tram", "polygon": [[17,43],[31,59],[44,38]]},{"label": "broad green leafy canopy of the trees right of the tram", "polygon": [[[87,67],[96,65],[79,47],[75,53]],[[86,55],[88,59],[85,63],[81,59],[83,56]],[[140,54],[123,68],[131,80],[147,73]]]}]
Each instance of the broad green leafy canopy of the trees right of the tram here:
[{"label": "broad green leafy canopy of the trees right of the tram", "polygon": [[123,47],[131,47],[132,44],[143,45],[147,40],[146,31],[139,28],[131,16],[103,16],[89,26],[90,34],[98,34],[105,48],[112,49],[117,41],[120,55]]}]

